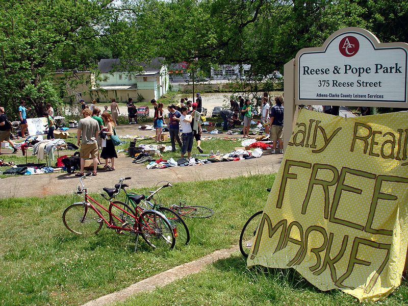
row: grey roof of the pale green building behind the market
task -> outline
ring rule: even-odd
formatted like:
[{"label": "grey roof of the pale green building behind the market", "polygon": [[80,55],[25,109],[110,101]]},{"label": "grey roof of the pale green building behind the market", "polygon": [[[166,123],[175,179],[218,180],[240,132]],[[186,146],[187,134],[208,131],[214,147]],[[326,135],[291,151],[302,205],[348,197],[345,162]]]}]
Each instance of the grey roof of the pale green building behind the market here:
[{"label": "grey roof of the pale green building behind the market", "polygon": [[[98,69],[101,73],[109,73],[109,72],[124,72],[124,70],[129,71],[126,69],[127,67],[141,67],[144,71],[160,71],[163,64],[162,61],[164,58],[154,58],[149,63],[141,63],[141,62],[129,62],[129,64],[124,65],[124,67],[120,66],[119,59],[101,59],[98,63]],[[134,69],[136,70],[136,69]],[[127,72],[126,71],[126,72]],[[132,72],[132,71],[129,71]]]}]

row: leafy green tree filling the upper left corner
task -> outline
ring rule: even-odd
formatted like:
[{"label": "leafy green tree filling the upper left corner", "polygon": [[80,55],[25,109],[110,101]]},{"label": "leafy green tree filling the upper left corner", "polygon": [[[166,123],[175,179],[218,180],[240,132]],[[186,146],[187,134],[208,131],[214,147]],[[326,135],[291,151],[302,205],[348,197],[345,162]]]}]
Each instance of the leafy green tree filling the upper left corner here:
[{"label": "leafy green tree filling the upper left corner", "polygon": [[95,63],[93,46],[114,16],[112,2],[1,2],[0,103],[9,114],[25,99],[41,116],[45,103],[56,105],[61,98],[53,85],[57,69],[83,69]]}]

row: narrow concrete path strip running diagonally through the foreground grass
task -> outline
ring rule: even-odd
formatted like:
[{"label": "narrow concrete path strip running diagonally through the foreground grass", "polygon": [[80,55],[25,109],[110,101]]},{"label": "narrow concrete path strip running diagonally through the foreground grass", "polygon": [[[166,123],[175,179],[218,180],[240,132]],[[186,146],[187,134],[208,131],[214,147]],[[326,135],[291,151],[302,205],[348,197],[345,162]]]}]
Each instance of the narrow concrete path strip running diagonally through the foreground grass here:
[{"label": "narrow concrete path strip running diagonally through the foreground grass", "polygon": [[83,306],[102,306],[112,302],[123,301],[133,294],[140,292],[149,292],[155,290],[157,287],[164,287],[177,279],[181,279],[187,275],[200,272],[206,265],[216,262],[220,259],[228,258],[233,252],[238,251],[238,246],[222,249],[208,254],[198,260],[185,263],[183,265],[174,267],[162,273],[156,274],[149,278],[143,279],[136,284],[133,284],[125,289],[122,289],[111,294],[101,296],[92,300]]}]

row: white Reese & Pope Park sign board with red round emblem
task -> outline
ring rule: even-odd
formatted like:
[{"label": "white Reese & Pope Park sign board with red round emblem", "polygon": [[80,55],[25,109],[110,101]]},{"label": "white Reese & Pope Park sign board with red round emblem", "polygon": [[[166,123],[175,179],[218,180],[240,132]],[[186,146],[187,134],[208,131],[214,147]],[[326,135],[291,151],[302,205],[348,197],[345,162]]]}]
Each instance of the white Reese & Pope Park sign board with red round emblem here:
[{"label": "white Reese & Pope Park sign board with red round emblem", "polygon": [[[321,48],[296,56],[300,100],[370,101],[403,104],[407,100],[407,45],[380,44],[368,31],[349,28],[330,36]],[[343,33],[341,33],[343,32]]]}]

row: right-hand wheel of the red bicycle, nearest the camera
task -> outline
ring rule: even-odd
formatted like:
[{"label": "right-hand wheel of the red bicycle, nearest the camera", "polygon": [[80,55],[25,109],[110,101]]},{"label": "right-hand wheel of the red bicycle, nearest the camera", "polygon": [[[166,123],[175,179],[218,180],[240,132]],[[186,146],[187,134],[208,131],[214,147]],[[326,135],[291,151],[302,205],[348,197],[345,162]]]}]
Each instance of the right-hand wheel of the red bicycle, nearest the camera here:
[{"label": "right-hand wheel of the red bicycle, nearest the camera", "polygon": [[175,244],[173,227],[156,211],[144,211],[139,218],[139,231],[148,245],[172,249]]}]

